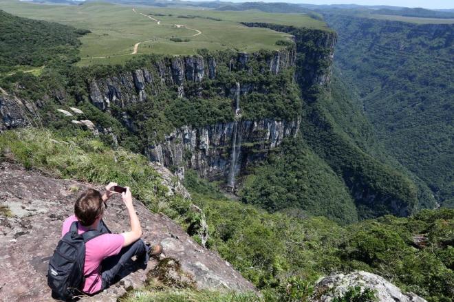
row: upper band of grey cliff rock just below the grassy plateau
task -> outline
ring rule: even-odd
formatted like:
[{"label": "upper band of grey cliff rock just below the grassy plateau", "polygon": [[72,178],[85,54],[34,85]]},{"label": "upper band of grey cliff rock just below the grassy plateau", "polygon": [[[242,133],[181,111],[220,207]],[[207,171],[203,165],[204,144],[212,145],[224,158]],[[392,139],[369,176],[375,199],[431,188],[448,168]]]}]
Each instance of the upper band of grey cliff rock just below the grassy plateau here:
[{"label": "upper band of grey cliff rock just below the grassy plateau", "polygon": [[[251,69],[251,58],[257,59],[259,54],[238,52],[223,63],[230,72]],[[293,47],[272,52],[265,58],[266,66],[272,74],[294,65],[296,50]],[[107,77],[92,79],[89,86],[91,103],[103,111],[109,111],[111,104],[126,107],[130,104],[147,100],[147,91],[153,95],[160,94],[164,89],[176,89],[180,98],[187,96],[184,84],[201,83],[205,79],[213,80],[217,76],[219,62],[217,58],[207,56],[176,56],[162,58],[151,62],[149,67],[120,72]],[[265,72],[266,70],[262,70]],[[191,91],[192,93],[192,91]]]}]

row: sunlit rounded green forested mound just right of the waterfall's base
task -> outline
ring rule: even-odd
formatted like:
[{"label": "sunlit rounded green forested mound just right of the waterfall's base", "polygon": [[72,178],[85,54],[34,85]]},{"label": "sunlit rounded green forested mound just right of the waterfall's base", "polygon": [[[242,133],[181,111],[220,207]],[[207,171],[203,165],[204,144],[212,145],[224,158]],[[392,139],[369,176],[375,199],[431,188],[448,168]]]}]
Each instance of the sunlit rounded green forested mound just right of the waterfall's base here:
[{"label": "sunlit rounded green forested mound just right of the waterfall's base", "polygon": [[284,142],[248,175],[241,201],[290,216],[325,216],[341,224],[358,221],[352,196],[339,175],[301,139]]}]

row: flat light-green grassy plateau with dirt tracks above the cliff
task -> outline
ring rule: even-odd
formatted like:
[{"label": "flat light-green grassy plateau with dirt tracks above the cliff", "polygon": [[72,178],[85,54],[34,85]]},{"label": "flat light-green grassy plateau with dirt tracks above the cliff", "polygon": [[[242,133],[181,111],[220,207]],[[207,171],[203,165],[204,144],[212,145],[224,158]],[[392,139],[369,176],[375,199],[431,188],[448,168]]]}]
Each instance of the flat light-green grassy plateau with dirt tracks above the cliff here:
[{"label": "flat light-green grassy plateau with dirt tracks above the cliff", "polygon": [[[241,21],[257,21],[327,29],[325,23],[305,14],[272,14],[255,10],[216,12],[169,8],[136,8],[111,3],[84,3],[80,6],[51,6],[0,0],[2,10],[20,17],[55,21],[75,28],[91,30],[80,38],[82,60],[79,65],[122,63],[133,54],[195,54],[197,49],[234,49],[243,52],[277,50],[276,42],[290,35],[266,28],[248,28]],[[157,22],[142,14],[152,14]],[[197,16],[182,18],[181,16]],[[220,19],[221,21],[217,21]],[[177,25],[185,27],[177,28]],[[191,30],[192,29],[192,30]],[[197,34],[199,30],[202,34]],[[173,37],[188,42],[173,42]]]}]

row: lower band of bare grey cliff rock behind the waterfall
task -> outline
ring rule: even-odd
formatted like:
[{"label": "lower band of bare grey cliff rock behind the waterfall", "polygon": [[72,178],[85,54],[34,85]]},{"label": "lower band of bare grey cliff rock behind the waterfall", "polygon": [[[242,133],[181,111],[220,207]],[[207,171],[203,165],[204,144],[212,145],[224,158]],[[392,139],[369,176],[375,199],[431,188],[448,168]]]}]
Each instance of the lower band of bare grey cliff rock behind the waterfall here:
[{"label": "lower band of bare grey cliff rock behind the waterfall", "polygon": [[287,137],[299,132],[300,120],[244,120],[206,127],[184,126],[166,136],[164,142],[151,144],[147,155],[164,166],[188,166],[210,178],[226,177],[230,171],[234,131],[237,131],[239,158],[235,170],[241,171],[250,162],[263,160],[268,152]]}]

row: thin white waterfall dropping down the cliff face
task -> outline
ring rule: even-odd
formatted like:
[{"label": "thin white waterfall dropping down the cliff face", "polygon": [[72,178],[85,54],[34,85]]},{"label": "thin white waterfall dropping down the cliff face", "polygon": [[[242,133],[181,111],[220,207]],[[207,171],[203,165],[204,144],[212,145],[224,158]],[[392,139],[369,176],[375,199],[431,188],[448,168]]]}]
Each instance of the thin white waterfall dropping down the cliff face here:
[{"label": "thin white waterfall dropping down the cliff face", "polygon": [[230,169],[228,171],[228,185],[232,191],[235,190],[235,173],[237,172],[237,164],[239,154],[241,152],[241,124],[238,127],[238,120],[241,117],[241,109],[239,108],[239,97],[241,94],[241,87],[236,83],[237,91],[235,92],[235,121],[233,122],[233,138],[232,138],[232,153],[230,155]]}]

